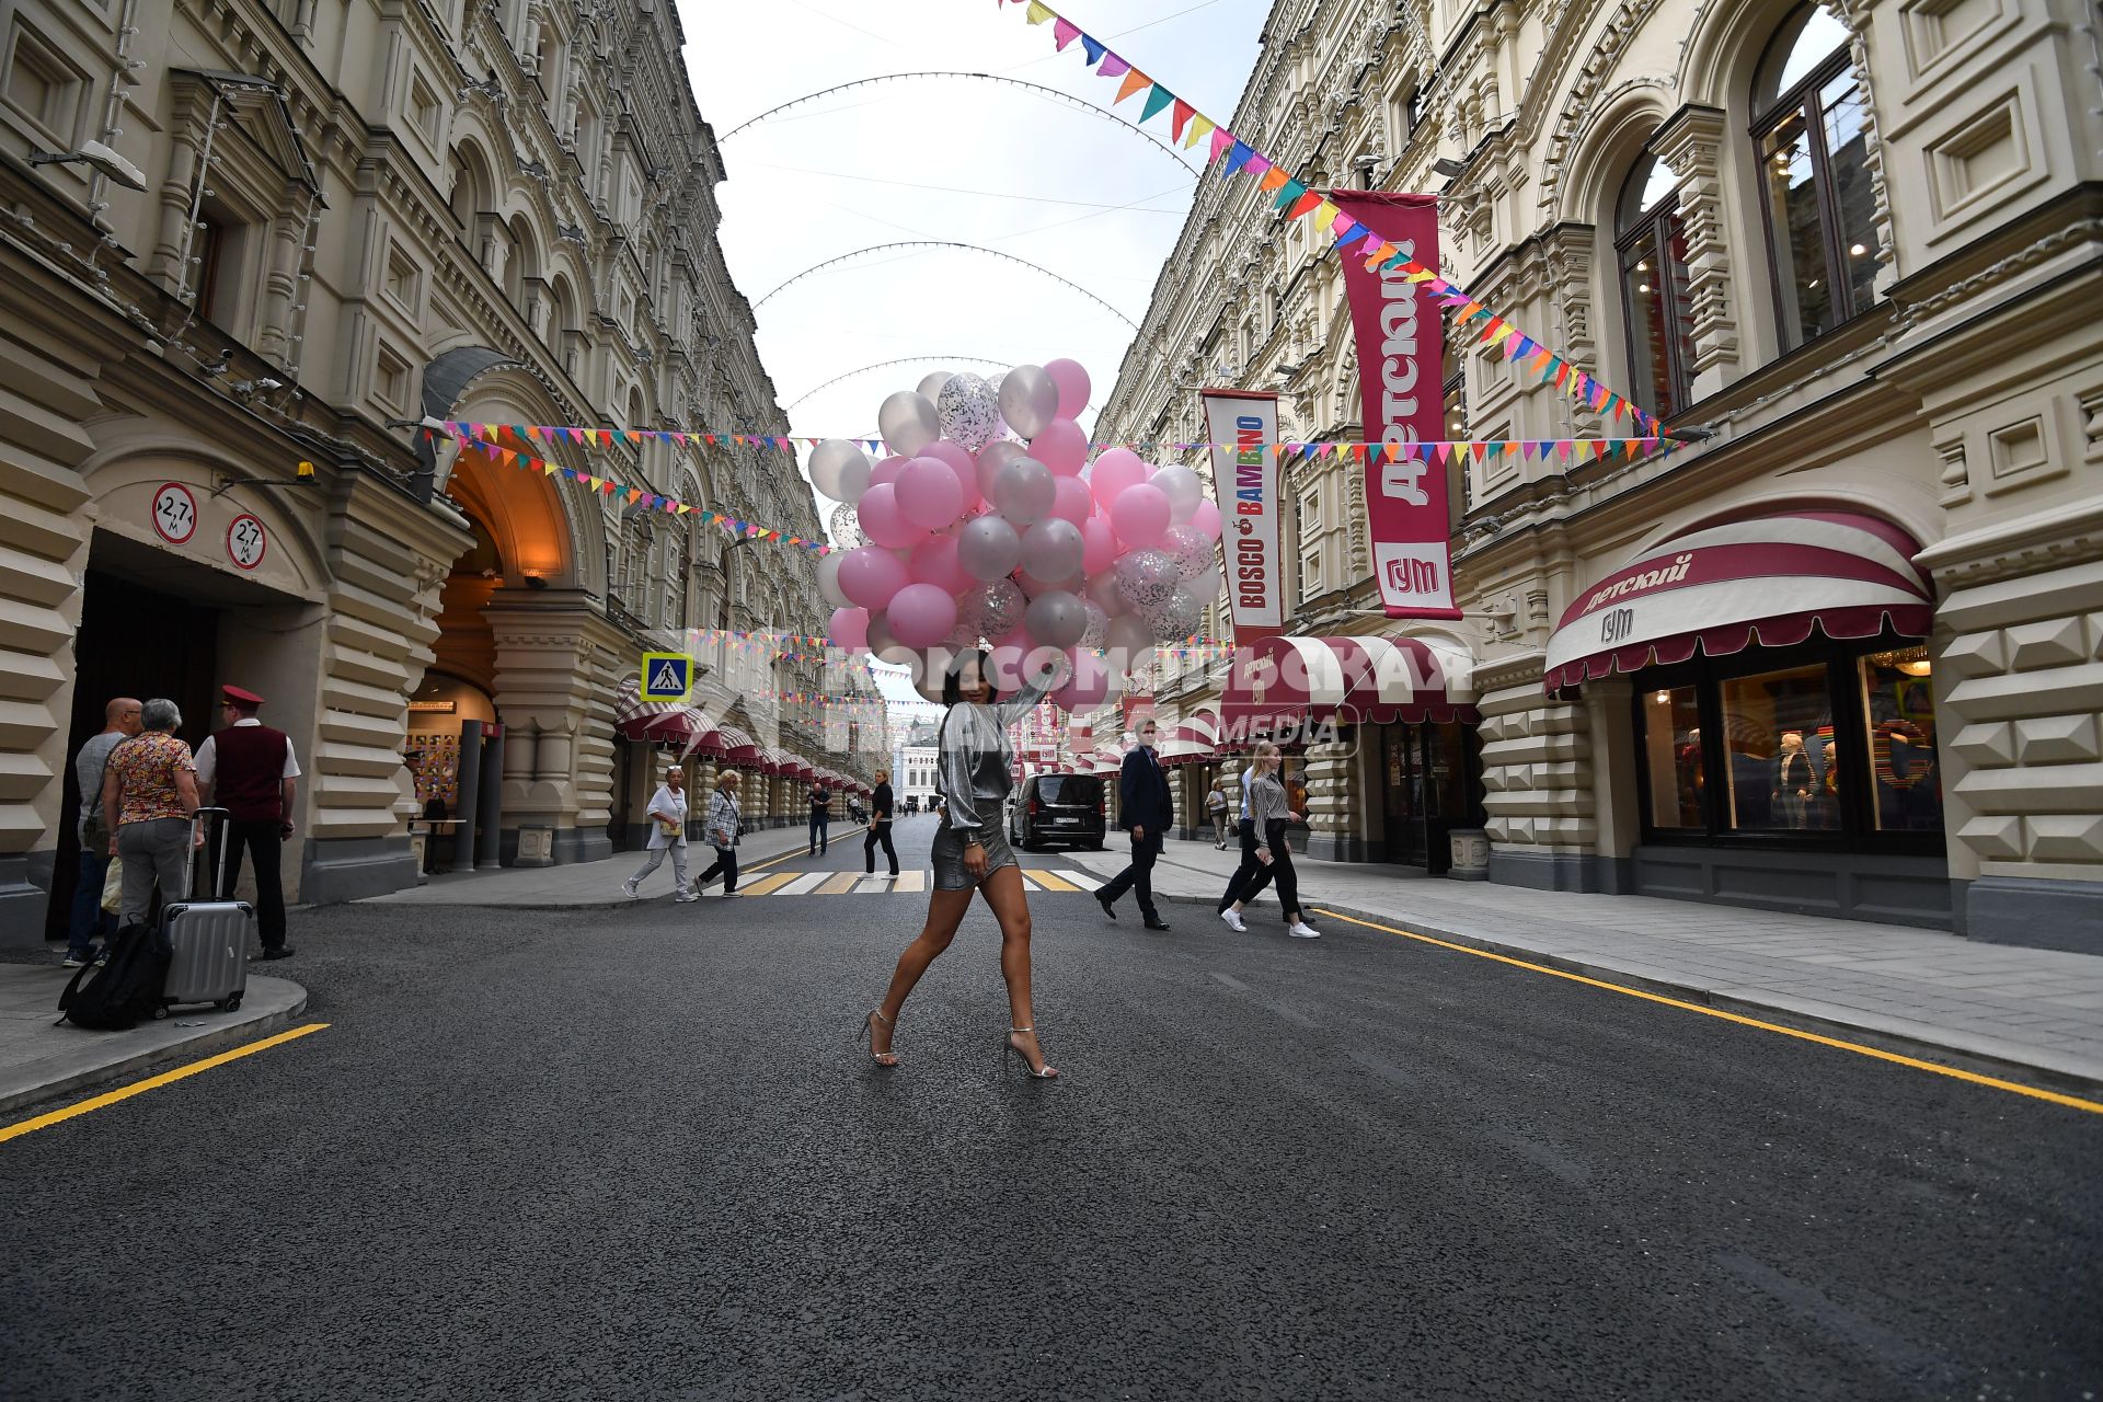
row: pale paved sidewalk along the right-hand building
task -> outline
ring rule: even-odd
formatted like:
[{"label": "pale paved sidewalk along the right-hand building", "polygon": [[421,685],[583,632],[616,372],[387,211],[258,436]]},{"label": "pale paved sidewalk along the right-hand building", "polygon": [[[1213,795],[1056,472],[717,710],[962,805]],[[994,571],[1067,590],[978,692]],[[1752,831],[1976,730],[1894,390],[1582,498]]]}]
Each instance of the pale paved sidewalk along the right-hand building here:
[{"label": "pale paved sidewalk along the right-hand building", "polygon": [[[1108,851],[1077,851],[1073,860],[1110,877],[1125,866],[1121,847],[1112,834]],[[1203,902],[1203,910],[1173,912],[1178,935],[1228,933],[1213,906],[1239,862],[1237,845],[1167,843],[1155,893]],[[1335,908],[1689,1003],[1785,1013],[2103,1085],[2103,956],[1649,895],[1529,891],[1306,855],[1293,855],[1293,866],[1308,919],[1325,933],[1356,929],[1319,914]],[[1283,937],[1268,889],[1243,919],[1251,933]]]}]

